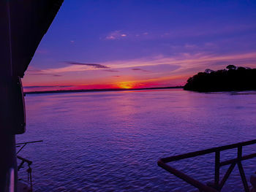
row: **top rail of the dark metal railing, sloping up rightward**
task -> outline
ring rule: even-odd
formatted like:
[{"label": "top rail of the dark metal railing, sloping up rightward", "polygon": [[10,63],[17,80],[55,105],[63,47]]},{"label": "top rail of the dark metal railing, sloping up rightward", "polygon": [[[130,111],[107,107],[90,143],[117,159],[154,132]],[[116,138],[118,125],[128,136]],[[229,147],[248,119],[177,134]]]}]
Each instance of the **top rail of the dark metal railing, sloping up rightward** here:
[{"label": "top rail of the dark metal railing, sloping up rightward", "polygon": [[216,151],[230,150],[230,149],[233,149],[233,148],[236,148],[236,147],[243,147],[243,146],[252,145],[252,144],[255,144],[255,143],[256,143],[256,139],[251,140],[251,141],[247,141],[247,142],[238,142],[238,143],[231,144],[231,145],[224,145],[224,146],[221,146],[221,147],[213,147],[213,148],[206,149],[206,150],[197,150],[197,151],[192,152],[192,153],[185,153],[185,154],[182,154],[182,155],[174,155],[174,156],[170,156],[170,157],[167,157],[167,158],[161,158],[161,161],[164,162],[164,163],[171,162],[171,161],[178,161],[178,160],[181,160],[181,159],[184,159],[184,158],[192,158],[192,157],[199,156],[199,155],[206,155],[208,153],[214,153]]}]

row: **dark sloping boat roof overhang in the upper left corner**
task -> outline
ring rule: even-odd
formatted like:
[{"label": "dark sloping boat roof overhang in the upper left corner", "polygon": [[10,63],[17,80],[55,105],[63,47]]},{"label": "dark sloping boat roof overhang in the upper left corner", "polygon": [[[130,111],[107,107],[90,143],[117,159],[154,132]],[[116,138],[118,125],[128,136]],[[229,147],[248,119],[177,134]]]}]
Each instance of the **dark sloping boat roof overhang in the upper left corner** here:
[{"label": "dark sloping boat roof overhang in the upper left corner", "polygon": [[[8,40],[10,49],[6,50],[7,46],[1,43],[0,51],[1,54],[10,52],[12,76],[23,77],[62,2],[63,0],[1,1],[0,35]],[[9,54],[4,56],[8,57]]]}]

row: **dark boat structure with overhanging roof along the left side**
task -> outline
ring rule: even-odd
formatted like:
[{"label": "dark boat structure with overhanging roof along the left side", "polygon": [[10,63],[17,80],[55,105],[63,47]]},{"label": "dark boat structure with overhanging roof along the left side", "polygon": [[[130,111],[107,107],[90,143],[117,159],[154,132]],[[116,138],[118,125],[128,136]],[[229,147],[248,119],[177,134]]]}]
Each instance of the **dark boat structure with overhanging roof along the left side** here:
[{"label": "dark boat structure with overhanging roof along the left side", "polygon": [[[21,79],[62,3],[63,0],[0,1],[0,191],[18,191],[18,169],[25,163],[31,165],[31,161],[16,154],[15,135],[26,131]],[[21,166],[17,158],[23,162]]]}]

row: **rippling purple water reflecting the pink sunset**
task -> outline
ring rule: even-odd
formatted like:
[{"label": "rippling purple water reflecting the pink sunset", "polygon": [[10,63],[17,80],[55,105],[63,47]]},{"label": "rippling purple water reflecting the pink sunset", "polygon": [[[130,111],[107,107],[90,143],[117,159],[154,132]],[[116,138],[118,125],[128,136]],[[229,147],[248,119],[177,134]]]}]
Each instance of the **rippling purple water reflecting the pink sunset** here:
[{"label": "rippling purple water reflecting the pink sunset", "polygon": [[[34,191],[197,191],[158,159],[256,139],[256,91],[43,93],[25,100],[26,133],[16,142],[43,140],[19,153],[33,161]],[[250,153],[256,145],[243,148]],[[220,158],[236,158],[236,150]],[[249,183],[256,158],[242,163]],[[202,183],[214,180],[214,154],[170,166]],[[24,182],[26,169],[18,172]],[[237,166],[222,191],[244,191]]]}]

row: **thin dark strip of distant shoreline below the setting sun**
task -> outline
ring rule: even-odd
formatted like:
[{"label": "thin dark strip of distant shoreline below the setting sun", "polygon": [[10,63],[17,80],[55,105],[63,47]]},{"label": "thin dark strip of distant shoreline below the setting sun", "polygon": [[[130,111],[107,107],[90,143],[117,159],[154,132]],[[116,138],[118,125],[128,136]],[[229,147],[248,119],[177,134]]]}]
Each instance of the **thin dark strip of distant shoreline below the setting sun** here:
[{"label": "thin dark strip of distant shoreline below the setting sun", "polygon": [[103,88],[103,89],[78,89],[78,90],[55,90],[55,91],[29,91],[24,94],[42,94],[42,93],[80,93],[80,92],[100,92],[100,91],[140,91],[140,90],[155,90],[155,89],[173,89],[184,88],[183,86],[162,87],[162,88]]}]

